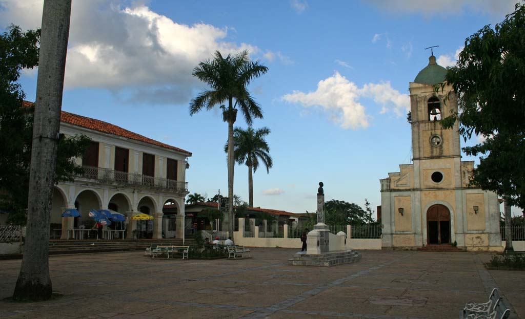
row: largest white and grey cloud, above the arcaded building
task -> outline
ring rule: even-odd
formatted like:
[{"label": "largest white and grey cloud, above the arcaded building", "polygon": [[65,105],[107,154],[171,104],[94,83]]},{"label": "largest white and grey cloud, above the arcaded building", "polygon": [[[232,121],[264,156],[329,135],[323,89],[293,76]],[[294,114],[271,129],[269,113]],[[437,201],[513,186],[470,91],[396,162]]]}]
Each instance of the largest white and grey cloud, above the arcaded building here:
[{"label": "largest white and grey cloud, above the arcaded building", "polygon": [[[198,62],[259,48],[227,40],[231,27],[185,25],[135,2],[76,1],[72,5],[65,87],[111,90],[125,101],[185,103],[203,84],[191,73]],[[119,5],[120,4],[120,5]],[[129,6],[125,6],[129,5]],[[40,25],[43,2],[0,0],[0,20],[22,28]],[[283,63],[291,60],[276,55]],[[121,94],[128,93],[128,94]],[[131,97],[129,95],[132,95]]]}]

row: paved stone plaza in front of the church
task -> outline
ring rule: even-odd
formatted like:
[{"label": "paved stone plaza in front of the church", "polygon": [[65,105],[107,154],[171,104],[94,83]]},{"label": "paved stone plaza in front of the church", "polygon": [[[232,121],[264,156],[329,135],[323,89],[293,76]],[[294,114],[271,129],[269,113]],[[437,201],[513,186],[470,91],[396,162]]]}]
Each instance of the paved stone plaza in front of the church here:
[{"label": "paved stone plaza in front of the church", "polygon": [[[151,260],[143,252],[49,258],[47,302],[0,301],[0,318],[457,318],[498,286],[525,318],[525,272],[486,270],[488,253],[361,251],[337,267],[290,266],[297,250],[254,248],[245,260]],[[20,260],[0,260],[0,297]],[[512,315],[516,317],[516,315]]]}]

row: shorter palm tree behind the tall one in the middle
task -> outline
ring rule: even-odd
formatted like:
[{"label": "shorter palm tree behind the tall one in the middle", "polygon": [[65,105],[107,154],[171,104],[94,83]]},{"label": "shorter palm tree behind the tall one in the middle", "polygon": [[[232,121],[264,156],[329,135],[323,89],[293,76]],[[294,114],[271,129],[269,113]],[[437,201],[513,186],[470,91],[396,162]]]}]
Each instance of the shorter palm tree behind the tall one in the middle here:
[{"label": "shorter palm tree behind the tall one in the middle", "polygon": [[[233,133],[235,161],[239,164],[248,166],[248,203],[249,207],[254,207],[254,180],[253,173],[259,168],[259,161],[266,167],[266,172],[270,173],[270,168],[274,165],[271,160],[270,147],[265,140],[265,136],[270,134],[268,127],[261,127],[255,131],[252,127],[243,130],[235,127]],[[224,145],[227,152],[228,144]]]}]

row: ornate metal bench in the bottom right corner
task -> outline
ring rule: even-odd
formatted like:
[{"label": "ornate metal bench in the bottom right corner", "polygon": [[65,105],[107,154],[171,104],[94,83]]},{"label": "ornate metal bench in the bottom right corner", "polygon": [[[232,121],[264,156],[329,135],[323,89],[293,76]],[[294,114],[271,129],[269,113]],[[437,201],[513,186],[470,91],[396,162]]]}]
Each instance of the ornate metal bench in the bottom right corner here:
[{"label": "ornate metal bench in the bottom right corner", "polygon": [[460,319],[506,319],[510,310],[503,302],[497,288],[492,289],[487,302],[467,302],[461,310]]}]

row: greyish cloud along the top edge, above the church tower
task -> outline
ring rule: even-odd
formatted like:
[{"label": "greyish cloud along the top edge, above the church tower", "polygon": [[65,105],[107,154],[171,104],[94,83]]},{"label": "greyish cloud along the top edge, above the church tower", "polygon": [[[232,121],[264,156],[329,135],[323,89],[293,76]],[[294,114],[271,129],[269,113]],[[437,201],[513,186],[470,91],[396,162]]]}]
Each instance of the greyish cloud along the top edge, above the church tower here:
[{"label": "greyish cloud along the top edge, above the church tower", "polygon": [[380,9],[393,13],[416,13],[424,16],[451,16],[464,12],[478,12],[489,15],[502,15],[514,11],[516,0],[370,0]]}]

